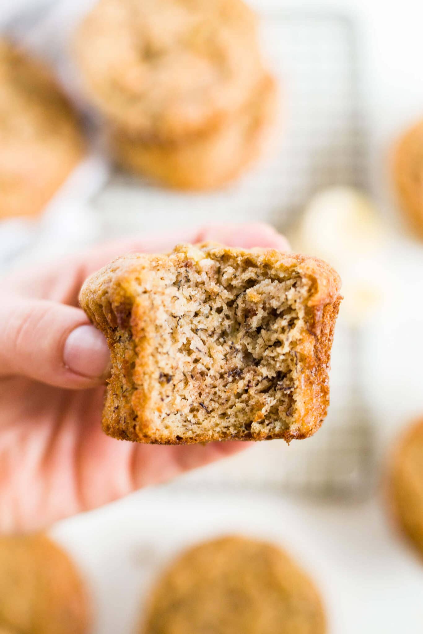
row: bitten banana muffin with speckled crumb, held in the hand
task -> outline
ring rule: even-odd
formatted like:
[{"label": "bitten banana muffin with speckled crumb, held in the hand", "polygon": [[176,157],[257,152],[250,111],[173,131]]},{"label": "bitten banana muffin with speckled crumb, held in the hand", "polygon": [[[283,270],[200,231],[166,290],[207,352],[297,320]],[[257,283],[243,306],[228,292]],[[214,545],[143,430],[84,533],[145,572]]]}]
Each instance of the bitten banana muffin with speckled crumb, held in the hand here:
[{"label": "bitten banana muffin with speckled crumb, held in the hand", "polygon": [[120,257],[80,302],[112,357],[103,429],[143,443],[313,434],[329,404],[340,280],[276,250]]}]

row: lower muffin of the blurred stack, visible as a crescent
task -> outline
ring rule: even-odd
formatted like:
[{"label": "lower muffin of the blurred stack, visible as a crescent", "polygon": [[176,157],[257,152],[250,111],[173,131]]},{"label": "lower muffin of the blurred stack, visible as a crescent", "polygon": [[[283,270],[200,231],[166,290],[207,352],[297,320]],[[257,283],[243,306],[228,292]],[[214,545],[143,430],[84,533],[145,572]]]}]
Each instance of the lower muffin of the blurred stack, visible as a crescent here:
[{"label": "lower muffin of the blurred stack, visible as a crescent", "polygon": [[112,137],[117,161],[174,188],[208,190],[236,178],[260,155],[275,119],[276,86],[266,75],[236,117],[194,138],[146,143],[120,131]]}]

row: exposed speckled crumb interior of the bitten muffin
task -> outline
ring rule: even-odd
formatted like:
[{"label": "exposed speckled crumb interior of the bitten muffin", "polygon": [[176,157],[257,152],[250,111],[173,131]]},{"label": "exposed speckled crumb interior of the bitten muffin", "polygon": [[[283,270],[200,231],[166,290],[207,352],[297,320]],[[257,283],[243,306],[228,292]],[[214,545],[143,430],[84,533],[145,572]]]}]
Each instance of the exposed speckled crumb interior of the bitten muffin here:
[{"label": "exposed speckled crumb interior of the bitten muffin", "polygon": [[[152,293],[143,278],[132,281],[129,327],[114,355],[134,411],[150,412],[149,432],[157,427],[178,442],[187,434],[287,429],[301,374],[296,345],[311,336],[304,314],[309,280],[295,269],[284,274],[225,254],[157,270],[157,284],[160,293]],[[126,420],[124,429],[138,423],[138,416]]]}]

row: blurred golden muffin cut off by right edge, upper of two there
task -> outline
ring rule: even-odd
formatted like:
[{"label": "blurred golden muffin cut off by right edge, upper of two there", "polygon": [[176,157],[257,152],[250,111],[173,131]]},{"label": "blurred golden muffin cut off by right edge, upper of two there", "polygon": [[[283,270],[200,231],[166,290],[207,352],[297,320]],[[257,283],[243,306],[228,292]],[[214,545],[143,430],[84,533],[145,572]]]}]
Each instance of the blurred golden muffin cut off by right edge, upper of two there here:
[{"label": "blurred golden muffin cut off by right edge, upper of two there", "polygon": [[408,129],[396,146],[394,183],[403,212],[423,239],[423,120]]}]

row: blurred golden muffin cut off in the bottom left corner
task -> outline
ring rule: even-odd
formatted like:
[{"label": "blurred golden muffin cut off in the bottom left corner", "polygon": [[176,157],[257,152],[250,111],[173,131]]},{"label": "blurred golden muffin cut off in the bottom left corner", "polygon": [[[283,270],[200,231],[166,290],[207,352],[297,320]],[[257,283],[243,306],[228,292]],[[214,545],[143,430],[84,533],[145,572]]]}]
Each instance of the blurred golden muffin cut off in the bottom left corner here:
[{"label": "blurred golden muffin cut off in the bottom left corner", "polygon": [[90,620],[86,588],[60,548],[39,534],[0,538],[0,632],[86,634]]}]

